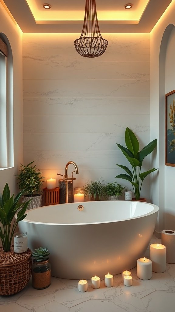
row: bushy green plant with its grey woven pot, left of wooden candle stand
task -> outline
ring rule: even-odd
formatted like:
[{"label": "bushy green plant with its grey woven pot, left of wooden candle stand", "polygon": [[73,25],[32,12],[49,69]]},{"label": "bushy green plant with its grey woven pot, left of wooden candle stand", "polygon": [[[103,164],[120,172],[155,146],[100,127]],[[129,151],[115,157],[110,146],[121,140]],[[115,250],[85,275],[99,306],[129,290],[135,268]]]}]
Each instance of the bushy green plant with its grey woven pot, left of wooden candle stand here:
[{"label": "bushy green plant with its grey woven pot, left of wooden candle stand", "polygon": [[22,196],[22,202],[28,201],[31,198],[31,202],[27,209],[32,209],[42,206],[42,184],[45,181],[45,178],[41,176],[41,173],[38,168],[32,166],[32,161],[27,166],[21,165],[20,173],[17,175],[17,180],[19,180],[19,189],[26,189],[25,194]]}]

